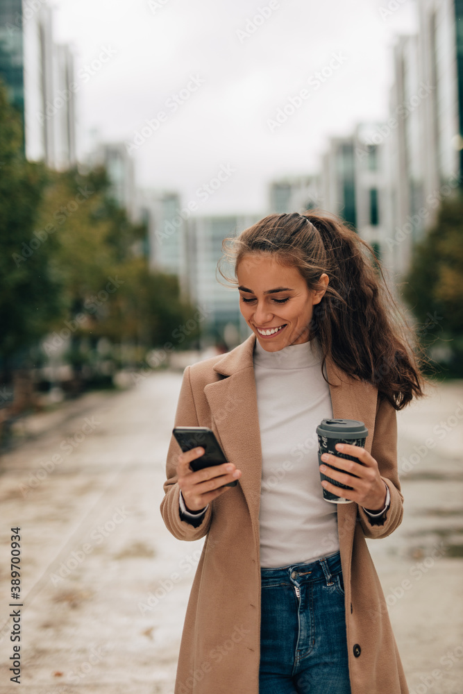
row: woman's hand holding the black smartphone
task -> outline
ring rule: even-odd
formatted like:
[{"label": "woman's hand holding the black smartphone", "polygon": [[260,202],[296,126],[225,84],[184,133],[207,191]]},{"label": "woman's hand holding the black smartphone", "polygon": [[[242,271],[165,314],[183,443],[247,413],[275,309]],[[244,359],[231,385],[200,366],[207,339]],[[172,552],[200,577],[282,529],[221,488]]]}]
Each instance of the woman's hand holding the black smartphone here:
[{"label": "woman's hand holding the black smartphone", "polygon": [[[220,496],[231,486],[223,486],[228,482],[239,480],[241,470],[237,470],[233,463],[223,463],[213,465],[209,468],[192,471],[190,462],[204,455],[204,448],[192,448],[180,453],[176,472],[178,475],[178,486],[182,492],[183,500],[187,511],[202,511],[212,499]],[[237,472],[236,476],[233,473]]]}]

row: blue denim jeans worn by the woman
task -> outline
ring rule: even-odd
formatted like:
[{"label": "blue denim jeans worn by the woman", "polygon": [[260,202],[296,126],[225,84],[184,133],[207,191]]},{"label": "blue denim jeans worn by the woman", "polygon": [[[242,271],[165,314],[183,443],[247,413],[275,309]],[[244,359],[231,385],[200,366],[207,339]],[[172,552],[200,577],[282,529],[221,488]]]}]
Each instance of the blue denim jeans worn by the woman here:
[{"label": "blue denim jeans worn by the woman", "polygon": [[351,694],[339,552],[260,568],[260,694]]}]

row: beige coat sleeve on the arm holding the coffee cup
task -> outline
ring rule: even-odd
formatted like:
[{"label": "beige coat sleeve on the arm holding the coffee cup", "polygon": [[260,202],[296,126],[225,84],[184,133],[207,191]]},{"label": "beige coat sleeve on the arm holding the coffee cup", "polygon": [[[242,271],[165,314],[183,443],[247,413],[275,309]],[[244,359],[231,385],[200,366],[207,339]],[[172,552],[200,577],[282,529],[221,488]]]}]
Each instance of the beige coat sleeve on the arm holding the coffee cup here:
[{"label": "beige coat sleeve on the arm holding the coffee cup", "polygon": [[374,539],[390,535],[401,525],[403,518],[403,495],[397,470],[397,415],[385,398],[380,400],[376,412],[371,455],[378,463],[381,478],[391,494],[391,505],[382,516],[372,518],[361,506],[357,509],[365,537]]}]

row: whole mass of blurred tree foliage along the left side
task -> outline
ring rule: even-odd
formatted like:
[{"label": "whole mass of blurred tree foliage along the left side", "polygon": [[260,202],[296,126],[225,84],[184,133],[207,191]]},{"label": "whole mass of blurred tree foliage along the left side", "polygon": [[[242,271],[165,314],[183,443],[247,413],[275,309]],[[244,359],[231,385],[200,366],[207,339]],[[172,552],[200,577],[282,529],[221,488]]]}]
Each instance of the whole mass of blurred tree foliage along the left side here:
[{"label": "whole mass of blurred tree foliage along the left side", "polygon": [[102,168],[57,172],[27,162],[21,119],[0,85],[0,357],[53,335],[47,355],[71,337],[78,364],[84,338],[149,350],[174,343],[176,328],[192,321],[178,280],[151,271],[142,255],[145,226],[109,191]]}]

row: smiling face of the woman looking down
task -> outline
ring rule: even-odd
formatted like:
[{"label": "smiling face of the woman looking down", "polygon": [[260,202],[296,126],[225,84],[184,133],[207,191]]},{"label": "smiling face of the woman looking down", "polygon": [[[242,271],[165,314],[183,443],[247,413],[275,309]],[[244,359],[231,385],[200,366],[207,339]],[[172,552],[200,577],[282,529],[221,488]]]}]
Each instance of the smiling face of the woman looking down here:
[{"label": "smiling face of the woman looking down", "polygon": [[248,253],[237,266],[237,279],[239,309],[264,350],[309,340],[313,306],[325,294],[328,275],[321,275],[321,291],[310,291],[296,268],[281,265],[274,255]]}]

